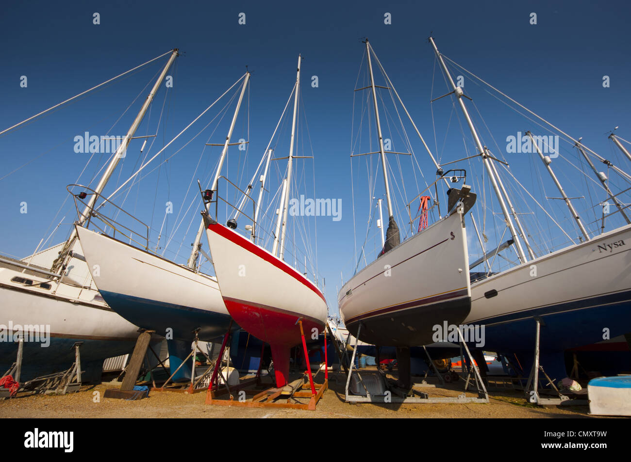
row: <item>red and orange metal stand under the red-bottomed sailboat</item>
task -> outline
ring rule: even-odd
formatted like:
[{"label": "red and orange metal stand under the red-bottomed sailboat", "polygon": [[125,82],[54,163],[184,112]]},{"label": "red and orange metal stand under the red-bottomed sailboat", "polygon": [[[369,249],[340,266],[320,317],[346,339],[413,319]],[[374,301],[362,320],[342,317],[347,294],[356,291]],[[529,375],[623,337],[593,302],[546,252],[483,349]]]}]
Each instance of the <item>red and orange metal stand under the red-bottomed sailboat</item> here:
[{"label": "red and orange metal stand under the red-bottomed sailboat", "polygon": [[[324,333],[324,383],[317,384],[314,382],[313,376],[311,374],[311,365],[309,364],[309,352],[307,351],[307,342],[305,340],[305,334],[302,328],[302,318],[298,318],[296,324],[300,326],[302,347],[305,355],[305,362],[307,364],[307,371],[302,378],[294,380],[292,381],[292,383],[288,383],[280,388],[276,388],[274,386],[264,386],[261,381],[261,366],[264,349],[263,344],[261,347],[261,361],[259,361],[259,370],[256,372],[256,377],[251,380],[243,381],[237,386],[228,386],[227,380],[224,379],[224,386],[221,387],[218,381],[215,381],[215,379],[217,378],[218,368],[220,367],[220,361],[217,361],[217,364],[215,364],[215,370],[213,371],[213,378],[211,378],[211,382],[208,385],[205,403],[221,406],[249,408],[290,408],[315,410],[315,405],[317,405],[317,402],[322,397],[324,390],[326,390],[326,388],[328,387],[329,372],[326,356],[326,330]],[[230,331],[228,331],[228,333],[229,332]],[[223,344],[221,345],[221,350],[219,352],[220,357],[223,354],[223,350],[227,343],[228,333],[226,333],[226,337],[223,339]],[[219,375],[221,376],[221,374]],[[307,377],[309,378],[308,381]],[[221,378],[223,379],[223,376],[221,376]],[[251,385],[254,385],[254,387],[249,388]],[[263,385],[262,388],[261,385]],[[235,396],[233,395],[233,391],[237,392],[237,400],[234,399]],[[225,395],[229,396],[228,399],[220,399],[220,396]],[[248,397],[248,395],[251,395],[251,397]],[[287,396],[286,400],[284,400],[285,396]],[[308,403],[292,403],[292,398],[310,399]]]}]

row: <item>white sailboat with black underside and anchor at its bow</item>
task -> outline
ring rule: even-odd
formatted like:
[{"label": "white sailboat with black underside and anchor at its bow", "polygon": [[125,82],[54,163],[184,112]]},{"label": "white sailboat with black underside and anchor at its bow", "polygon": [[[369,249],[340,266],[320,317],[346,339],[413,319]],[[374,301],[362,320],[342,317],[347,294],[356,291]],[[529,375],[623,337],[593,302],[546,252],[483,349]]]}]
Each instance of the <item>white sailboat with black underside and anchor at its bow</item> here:
[{"label": "white sailboat with black underside and anchor at its bow", "polygon": [[[339,291],[339,313],[346,328],[363,342],[397,347],[399,384],[410,388],[410,347],[433,343],[435,326],[460,325],[471,309],[464,215],[475,202],[475,194],[467,185],[451,188],[447,215],[399,242],[372,71],[374,51],[368,40],[365,44],[370,85],[361,90],[372,91],[388,228],[377,260]],[[388,84],[394,88],[389,79]]]}]

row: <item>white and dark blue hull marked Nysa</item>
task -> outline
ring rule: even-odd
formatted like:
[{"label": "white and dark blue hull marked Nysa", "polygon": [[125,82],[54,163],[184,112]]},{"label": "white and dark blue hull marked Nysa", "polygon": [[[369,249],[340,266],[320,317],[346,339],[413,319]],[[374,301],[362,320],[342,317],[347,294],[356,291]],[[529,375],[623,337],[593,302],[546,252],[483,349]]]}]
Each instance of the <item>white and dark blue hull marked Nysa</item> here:
[{"label": "white and dark blue hull marked Nysa", "polygon": [[563,350],[631,332],[629,250],[627,225],[476,282],[464,323],[485,326],[483,348],[521,355],[528,374],[540,317],[541,364],[563,378]]}]

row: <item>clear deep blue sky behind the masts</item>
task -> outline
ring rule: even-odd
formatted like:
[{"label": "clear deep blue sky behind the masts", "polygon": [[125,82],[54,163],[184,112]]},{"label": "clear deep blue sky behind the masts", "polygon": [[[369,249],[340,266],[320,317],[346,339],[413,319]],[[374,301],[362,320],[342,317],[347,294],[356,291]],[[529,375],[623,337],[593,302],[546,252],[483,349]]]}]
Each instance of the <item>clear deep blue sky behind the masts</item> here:
[{"label": "clear deep blue sky behind the masts", "polygon": [[[620,136],[631,139],[630,10],[626,2],[582,1],[5,2],[0,6],[0,38],[5,49],[0,71],[0,129],[178,47],[186,55],[178,59],[172,72],[174,88],[165,111],[166,128],[151,152],[156,153],[162,146],[158,144],[196,117],[244,73],[247,65],[252,71],[248,155],[257,163],[292,88],[297,55],[302,53],[302,98],[315,156],[316,195],[342,201],[340,221],[317,219],[318,269],[326,278],[327,300],[335,313],[339,273],[343,271],[348,279],[354,267],[348,155],[353,86],[363,54],[360,39],[370,38],[432,149],[429,100],[447,90],[434,69],[435,59],[427,43],[430,32],[445,55],[570,135],[582,136],[587,146],[604,157],[618,156],[618,164],[628,171],[630,166],[613,151],[605,133],[620,125]],[[93,24],[94,12],[100,13],[100,25]],[[532,12],[537,14],[536,25],[529,24]],[[239,25],[239,13],[245,13],[245,25]],[[385,13],[391,13],[391,25],[384,24]],[[0,137],[0,177],[34,159],[0,180],[0,253],[28,255],[50,224],[56,226],[64,215],[62,234],[68,231],[72,208],[66,207],[55,216],[66,198],[65,186],[76,180],[87,159],[86,154],[74,153],[73,137],[86,130],[99,134],[107,130],[162,62]],[[318,88],[310,86],[314,75],[319,79]],[[603,88],[605,75],[610,76],[610,88]],[[27,88],[20,88],[20,76],[27,76]],[[433,78],[440,78],[441,86],[436,80],[432,93]],[[475,87],[465,84],[466,92],[468,88],[473,91]],[[163,95],[158,95],[152,123],[162,101]],[[524,119],[519,122],[492,101],[480,99],[478,103],[476,99],[476,103],[498,141],[517,130],[534,131]],[[445,102],[449,110],[450,104]],[[131,122],[129,114],[137,107],[116,125],[116,134],[124,134]],[[449,110],[437,109],[435,113],[437,139],[442,158],[457,159],[464,157],[462,152],[454,152],[457,144],[453,149],[451,144],[442,147],[445,133],[451,134],[445,120]],[[153,125],[143,125],[139,133],[151,132],[149,127]],[[244,132],[240,120],[235,137]],[[214,139],[225,136],[225,130],[221,133]],[[456,137],[454,143],[462,146],[461,140],[462,136]],[[174,201],[181,197],[204,142],[198,139],[197,144],[178,154],[177,163],[161,170],[161,199],[162,195]],[[421,167],[427,167],[424,173],[432,176],[435,169],[427,163],[418,143],[415,150]],[[138,147],[130,149],[130,155],[132,152],[137,153]],[[516,171],[521,162],[510,159]],[[94,167],[91,165],[90,171]],[[133,163],[127,162],[126,168],[124,171],[131,171]],[[148,182],[156,175],[147,178]],[[136,202],[131,204],[136,211],[144,213],[153,207],[155,185],[153,181],[134,190]],[[356,191],[356,199],[358,194]],[[20,214],[23,201],[28,204],[27,214]],[[150,206],[144,207],[149,204],[146,201]],[[161,222],[162,215],[153,218],[154,226],[159,228]],[[358,240],[363,240],[364,224],[365,219],[358,220]],[[58,234],[53,242],[62,238]]]}]

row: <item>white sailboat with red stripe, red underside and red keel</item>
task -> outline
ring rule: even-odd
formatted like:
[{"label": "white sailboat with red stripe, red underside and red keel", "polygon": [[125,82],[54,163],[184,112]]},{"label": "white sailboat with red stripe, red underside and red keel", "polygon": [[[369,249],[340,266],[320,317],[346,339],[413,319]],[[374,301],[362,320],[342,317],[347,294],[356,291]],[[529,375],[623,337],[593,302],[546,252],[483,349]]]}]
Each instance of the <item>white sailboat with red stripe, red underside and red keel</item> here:
[{"label": "white sailboat with red stripe, red underside and red keel", "polygon": [[[206,236],[221,296],[230,315],[247,332],[271,346],[276,386],[285,386],[289,378],[290,349],[301,342],[301,331],[312,335],[322,332],[327,318],[324,294],[297,269],[284,260],[292,161],[295,157],[296,117],[300,91],[300,61],[294,86],[293,122],[286,178],[276,222],[273,250],[256,245],[238,231],[230,219],[223,226],[203,212]],[[268,151],[269,156],[269,151]],[[269,165],[269,161],[267,163]],[[213,191],[215,201],[218,192]],[[260,196],[259,196],[260,197]],[[260,207],[260,200],[258,202]],[[252,217],[251,232],[256,233],[257,212]],[[298,323],[302,325],[298,325]]]}]

